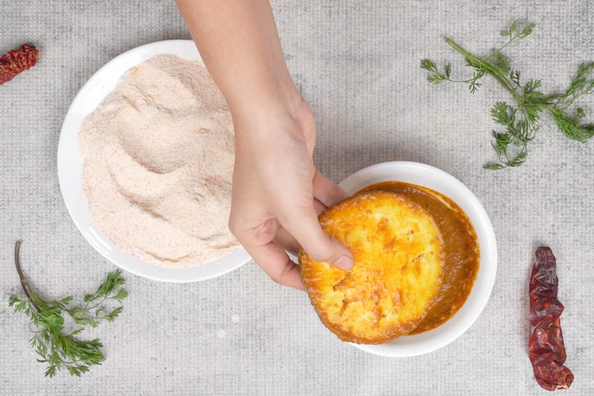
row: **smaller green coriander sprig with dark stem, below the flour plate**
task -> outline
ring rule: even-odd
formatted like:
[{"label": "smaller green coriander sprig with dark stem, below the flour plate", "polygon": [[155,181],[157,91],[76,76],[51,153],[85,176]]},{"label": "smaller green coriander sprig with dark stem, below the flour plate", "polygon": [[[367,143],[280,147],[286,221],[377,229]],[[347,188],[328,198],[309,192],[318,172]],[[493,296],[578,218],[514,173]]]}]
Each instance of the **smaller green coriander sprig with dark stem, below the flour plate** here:
[{"label": "smaller green coriander sprig with dark stem, below the flour plate", "polygon": [[122,306],[108,309],[104,303],[108,300],[121,303],[128,296],[128,292],[119,287],[125,283],[120,271],[109,273],[94,294],[87,294],[84,297],[84,306],[71,307],[72,296],[52,301],[31,289],[21,270],[19,251],[20,242],[17,242],[14,262],[26,298],[11,294],[8,305],[14,306],[15,311],[22,311],[30,316],[29,329],[33,332],[30,345],[40,356],[37,362],[48,363],[45,375],[51,378],[56,375],[56,370],[67,369],[70,375],[80,376],[89,371],[90,366],[100,365],[105,360],[100,351],[103,344],[97,339],[79,340],[76,336],[83,328],[65,332],[62,313],[67,313],[78,325],[96,327],[101,321],[113,321],[122,312]]}]

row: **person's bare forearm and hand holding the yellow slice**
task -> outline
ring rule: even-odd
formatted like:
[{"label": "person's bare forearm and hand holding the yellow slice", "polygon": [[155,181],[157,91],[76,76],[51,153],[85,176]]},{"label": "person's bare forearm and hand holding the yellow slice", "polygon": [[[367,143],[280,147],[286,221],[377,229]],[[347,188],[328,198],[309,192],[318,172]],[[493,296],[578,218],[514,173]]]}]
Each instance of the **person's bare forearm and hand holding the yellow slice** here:
[{"label": "person's bare forearm and hand holding the yellow slice", "polygon": [[267,0],[176,0],[235,126],[229,229],[278,283],[303,289],[283,250],[352,267],[317,214],[346,198],[315,171],[315,121],[295,89]]}]

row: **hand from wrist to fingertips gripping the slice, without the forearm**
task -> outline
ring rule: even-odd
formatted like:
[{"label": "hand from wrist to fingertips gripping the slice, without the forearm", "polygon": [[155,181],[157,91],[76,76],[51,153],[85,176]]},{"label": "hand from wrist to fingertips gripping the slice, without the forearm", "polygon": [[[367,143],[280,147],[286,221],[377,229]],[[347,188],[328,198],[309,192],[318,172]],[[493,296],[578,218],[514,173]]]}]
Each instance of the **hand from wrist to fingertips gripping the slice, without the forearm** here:
[{"label": "hand from wrist to fingertips gripping the slice, without the forearm", "polygon": [[315,261],[343,270],[352,267],[353,256],[318,223],[318,215],[347,194],[315,170],[314,116],[298,94],[287,102],[233,115],[229,229],[272,280],[304,289],[299,267],[284,249],[295,253],[302,246]]}]

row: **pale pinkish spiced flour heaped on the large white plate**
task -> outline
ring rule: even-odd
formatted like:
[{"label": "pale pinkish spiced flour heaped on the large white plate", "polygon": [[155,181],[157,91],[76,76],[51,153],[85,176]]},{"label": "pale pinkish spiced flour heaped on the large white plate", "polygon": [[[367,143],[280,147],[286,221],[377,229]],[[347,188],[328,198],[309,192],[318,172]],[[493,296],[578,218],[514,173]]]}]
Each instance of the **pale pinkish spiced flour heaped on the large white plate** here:
[{"label": "pale pinkish spiced flour heaped on the large white plate", "polygon": [[233,123],[199,62],[160,55],[127,72],[78,140],[91,216],[119,248],[186,267],[238,246],[227,226]]}]

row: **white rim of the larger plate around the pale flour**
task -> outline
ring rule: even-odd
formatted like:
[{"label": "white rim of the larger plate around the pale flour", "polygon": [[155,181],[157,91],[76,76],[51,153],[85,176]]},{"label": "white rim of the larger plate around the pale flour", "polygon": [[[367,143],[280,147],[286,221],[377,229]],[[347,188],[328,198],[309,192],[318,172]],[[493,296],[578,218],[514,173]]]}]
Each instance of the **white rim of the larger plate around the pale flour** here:
[{"label": "white rim of the larger plate around the pale flour", "polygon": [[122,251],[94,224],[83,190],[83,160],[78,150],[78,129],[84,118],[103,102],[115,88],[119,78],[129,69],[155,55],[177,55],[188,61],[202,62],[198,49],[191,40],[167,40],[136,47],[122,53],[89,78],[74,98],[62,124],[58,144],[58,179],[62,197],[78,230],[106,259],[132,274],[166,282],[195,282],[214,278],[235,270],[251,257],[238,248],[222,258],[189,268],[165,268],[141,260]]}]

